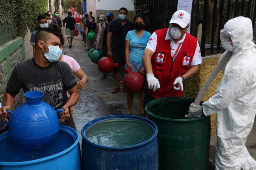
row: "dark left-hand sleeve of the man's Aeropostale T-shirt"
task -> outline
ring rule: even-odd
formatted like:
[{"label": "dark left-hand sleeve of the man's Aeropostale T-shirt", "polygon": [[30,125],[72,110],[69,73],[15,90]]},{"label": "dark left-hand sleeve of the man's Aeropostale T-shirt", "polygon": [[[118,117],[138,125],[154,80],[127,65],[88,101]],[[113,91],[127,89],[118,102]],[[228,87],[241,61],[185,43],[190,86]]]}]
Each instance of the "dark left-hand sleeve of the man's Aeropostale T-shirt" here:
[{"label": "dark left-hand sleeve of the man's Aeropostale T-shirt", "polygon": [[6,93],[10,93],[13,97],[17,95],[21,88],[20,83],[20,77],[17,68],[15,67],[13,69],[13,72],[11,73],[11,77],[8,80],[7,87],[6,87]]}]

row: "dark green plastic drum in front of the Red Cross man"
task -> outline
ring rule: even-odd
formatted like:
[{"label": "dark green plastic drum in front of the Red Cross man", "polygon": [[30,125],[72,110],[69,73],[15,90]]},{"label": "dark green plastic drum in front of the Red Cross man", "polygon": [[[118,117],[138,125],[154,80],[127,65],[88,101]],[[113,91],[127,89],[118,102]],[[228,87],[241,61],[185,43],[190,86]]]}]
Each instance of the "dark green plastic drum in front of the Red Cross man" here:
[{"label": "dark green plastic drum in front of the Red Cross man", "polygon": [[194,101],[165,97],[147,104],[147,118],[158,126],[159,170],[208,170],[210,116],[184,117]]}]

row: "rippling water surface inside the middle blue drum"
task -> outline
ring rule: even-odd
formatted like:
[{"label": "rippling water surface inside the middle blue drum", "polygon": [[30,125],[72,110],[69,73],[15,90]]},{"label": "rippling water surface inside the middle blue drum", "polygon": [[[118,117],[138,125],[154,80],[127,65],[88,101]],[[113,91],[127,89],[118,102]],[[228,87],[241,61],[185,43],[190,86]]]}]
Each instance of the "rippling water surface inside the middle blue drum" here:
[{"label": "rippling water surface inside the middle blue drum", "polygon": [[147,141],[152,137],[154,130],[142,121],[114,119],[99,122],[84,133],[87,139],[95,144],[123,147]]}]

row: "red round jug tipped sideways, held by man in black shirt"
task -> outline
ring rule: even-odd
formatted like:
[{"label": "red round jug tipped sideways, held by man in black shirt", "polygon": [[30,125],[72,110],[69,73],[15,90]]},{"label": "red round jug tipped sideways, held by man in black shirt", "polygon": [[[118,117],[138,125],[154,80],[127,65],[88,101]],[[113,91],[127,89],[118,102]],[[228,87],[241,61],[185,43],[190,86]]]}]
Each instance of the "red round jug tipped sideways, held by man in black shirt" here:
[{"label": "red round jug tipped sideways, held by man in black shirt", "polygon": [[114,63],[109,57],[103,57],[98,61],[98,69],[102,73],[111,73],[114,68],[119,68],[118,63]]}]

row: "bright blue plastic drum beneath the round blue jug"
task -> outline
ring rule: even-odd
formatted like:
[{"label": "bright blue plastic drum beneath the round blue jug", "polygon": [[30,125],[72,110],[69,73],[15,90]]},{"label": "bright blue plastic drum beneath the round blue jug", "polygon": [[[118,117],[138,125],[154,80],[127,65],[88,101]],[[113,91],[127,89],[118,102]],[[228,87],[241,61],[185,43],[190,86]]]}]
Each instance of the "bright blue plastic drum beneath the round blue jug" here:
[{"label": "bright blue plastic drum beneath the round blue jug", "polygon": [[12,143],[9,132],[0,135],[1,170],[80,170],[79,135],[61,125],[54,142],[39,150]]}]

